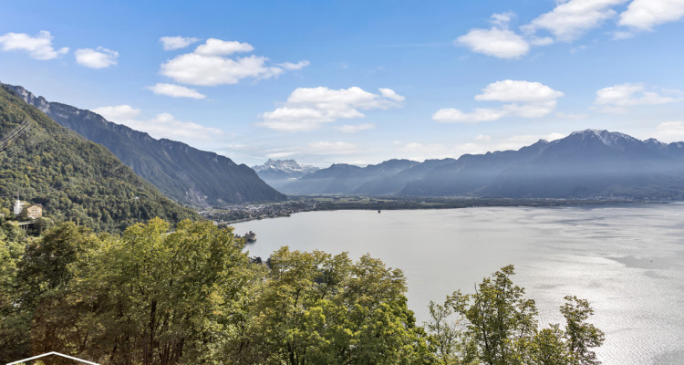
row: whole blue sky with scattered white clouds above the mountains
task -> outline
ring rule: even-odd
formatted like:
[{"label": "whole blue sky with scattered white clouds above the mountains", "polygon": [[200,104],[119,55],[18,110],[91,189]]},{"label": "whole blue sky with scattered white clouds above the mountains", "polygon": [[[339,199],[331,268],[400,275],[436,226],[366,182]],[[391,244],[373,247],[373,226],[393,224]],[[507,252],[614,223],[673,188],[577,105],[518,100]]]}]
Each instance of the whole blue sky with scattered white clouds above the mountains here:
[{"label": "whole blue sky with scattered white clouds above the mountains", "polygon": [[0,81],[254,165],[684,141],[684,2],[0,0]]}]

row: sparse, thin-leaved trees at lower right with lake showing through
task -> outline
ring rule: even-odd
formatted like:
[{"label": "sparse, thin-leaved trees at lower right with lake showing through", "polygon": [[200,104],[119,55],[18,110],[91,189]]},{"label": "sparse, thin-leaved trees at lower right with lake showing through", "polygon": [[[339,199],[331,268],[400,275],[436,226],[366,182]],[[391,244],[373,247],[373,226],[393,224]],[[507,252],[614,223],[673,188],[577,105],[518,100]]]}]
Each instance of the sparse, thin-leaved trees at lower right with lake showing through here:
[{"label": "sparse, thin-leaved trees at lower right with lake showing through", "polygon": [[426,324],[430,344],[442,364],[594,365],[604,335],[587,323],[594,312],[589,303],[565,297],[561,307],[566,326],[539,330],[534,300],[513,285],[513,266],[505,266],[484,278],[471,295],[460,291],[444,305],[430,302],[431,321]]}]

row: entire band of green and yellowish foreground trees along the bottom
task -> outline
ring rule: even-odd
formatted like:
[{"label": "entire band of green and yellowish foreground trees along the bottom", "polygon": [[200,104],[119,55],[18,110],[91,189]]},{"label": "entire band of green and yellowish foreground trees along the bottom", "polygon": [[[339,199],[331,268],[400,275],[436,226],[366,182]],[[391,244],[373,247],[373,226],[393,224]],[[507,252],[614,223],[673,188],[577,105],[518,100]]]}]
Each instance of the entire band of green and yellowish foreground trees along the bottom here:
[{"label": "entire band of green and yellowish foreground trees along the bottom", "polygon": [[277,250],[252,263],[231,228],[151,220],[123,235],[58,224],[0,241],[0,361],[57,350],[102,364],[594,364],[585,300],[537,329],[513,266],[430,304],[368,255]]}]

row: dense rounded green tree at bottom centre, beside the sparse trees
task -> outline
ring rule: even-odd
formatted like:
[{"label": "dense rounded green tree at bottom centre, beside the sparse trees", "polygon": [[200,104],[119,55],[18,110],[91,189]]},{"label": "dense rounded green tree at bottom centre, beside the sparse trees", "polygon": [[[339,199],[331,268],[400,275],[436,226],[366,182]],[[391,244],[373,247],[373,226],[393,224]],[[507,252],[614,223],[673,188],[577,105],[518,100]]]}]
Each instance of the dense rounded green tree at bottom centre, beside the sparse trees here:
[{"label": "dense rounded green tree at bottom centre, beside the sparse trees", "polygon": [[[410,364],[432,360],[408,309],[399,270],[368,255],[302,253],[283,247],[230,356],[236,363]],[[230,352],[230,351],[229,351]]]}]

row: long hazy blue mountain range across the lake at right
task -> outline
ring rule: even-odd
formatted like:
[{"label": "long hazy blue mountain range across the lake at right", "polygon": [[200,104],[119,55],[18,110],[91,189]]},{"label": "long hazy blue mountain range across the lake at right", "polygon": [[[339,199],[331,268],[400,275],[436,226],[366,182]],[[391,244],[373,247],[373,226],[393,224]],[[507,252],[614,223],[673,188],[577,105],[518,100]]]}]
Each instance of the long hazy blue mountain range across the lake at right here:
[{"label": "long hazy blue mountain range across the lake at right", "polygon": [[458,160],[334,164],[282,188],[291,194],[490,198],[684,198],[684,142],[639,141],[607,130],[575,131],[518,151]]}]

